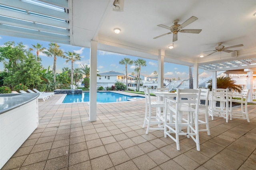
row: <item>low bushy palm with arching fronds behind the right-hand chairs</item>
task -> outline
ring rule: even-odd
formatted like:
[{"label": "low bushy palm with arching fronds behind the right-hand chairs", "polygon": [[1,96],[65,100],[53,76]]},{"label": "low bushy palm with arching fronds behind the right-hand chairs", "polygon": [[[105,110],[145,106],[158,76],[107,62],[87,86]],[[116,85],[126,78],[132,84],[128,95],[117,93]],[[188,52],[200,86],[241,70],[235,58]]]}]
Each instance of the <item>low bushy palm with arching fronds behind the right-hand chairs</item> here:
[{"label": "low bushy palm with arching fronds behind the right-hand chairs", "polygon": [[[217,88],[228,88],[228,89],[232,89],[235,90],[237,92],[241,92],[241,86],[236,85],[234,80],[232,80],[230,77],[218,77],[217,78]],[[207,88],[210,88],[210,90],[212,90],[212,79],[209,80],[207,83],[208,86]]]}]

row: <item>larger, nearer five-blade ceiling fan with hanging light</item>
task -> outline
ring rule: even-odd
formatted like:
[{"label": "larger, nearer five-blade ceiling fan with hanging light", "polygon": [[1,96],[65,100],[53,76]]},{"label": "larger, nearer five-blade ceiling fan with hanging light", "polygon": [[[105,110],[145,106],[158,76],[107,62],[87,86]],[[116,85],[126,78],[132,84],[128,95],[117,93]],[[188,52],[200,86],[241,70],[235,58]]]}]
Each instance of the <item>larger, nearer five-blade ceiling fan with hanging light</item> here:
[{"label": "larger, nearer five-blade ceiling fan with hanging light", "polygon": [[188,20],[186,20],[182,24],[178,24],[179,20],[174,20],[172,22],[172,23],[174,23],[174,25],[172,25],[171,27],[168,27],[168,26],[163,25],[163,24],[159,24],[157,26],[169,29],[170,32],[165,33],[163,35],[159,35],[157,37],[154,37],[153,39],[156,39],[156,38],[162,37],[164,35],[168,35],[170,33],[173,33],[172,42],[174,42],[174,41],[178,40],[178,32],[180,32],[180,33],[200,33],[202,31],[202,29],[183,29],[184,27],[186,27],[187,25],[189,25],[190,23],[192,23],[196,20],[198,20],[198,18],[196,18],[195,16],[192,16],[191,18],[189,18]]}]

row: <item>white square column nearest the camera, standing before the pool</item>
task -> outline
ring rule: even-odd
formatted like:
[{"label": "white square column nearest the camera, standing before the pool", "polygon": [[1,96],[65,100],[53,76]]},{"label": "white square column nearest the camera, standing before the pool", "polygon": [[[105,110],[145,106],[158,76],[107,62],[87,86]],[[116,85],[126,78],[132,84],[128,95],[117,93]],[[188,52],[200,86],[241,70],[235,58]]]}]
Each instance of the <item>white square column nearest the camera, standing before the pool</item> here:
[{"label": "white square column nearest the camera, standing before the pool", "polygon": [[97,119],[97,48],[98,41],[91,41],[89,121],[96,121]]}]

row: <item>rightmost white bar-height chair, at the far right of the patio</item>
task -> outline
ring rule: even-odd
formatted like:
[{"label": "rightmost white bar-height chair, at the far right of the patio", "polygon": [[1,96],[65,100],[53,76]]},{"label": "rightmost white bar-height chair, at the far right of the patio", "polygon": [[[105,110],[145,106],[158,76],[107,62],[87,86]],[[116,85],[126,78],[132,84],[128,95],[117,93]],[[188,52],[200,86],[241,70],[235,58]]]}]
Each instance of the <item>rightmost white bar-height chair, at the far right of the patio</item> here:
[{"label": "rightmost white bar-height chair, at the far right of the patio", "polygon": [[[240,95],[232,95],[232,99],[230,102],[230,120],[232,118],[240,118],[240,119],[246,119],[248,122],[249,116],[247,111],[247,102],[248,102],[248,96],[249,96],[250,89],[244,89]],[[233,98],[241,98],[239,99],[233,99]],[[240,103],[241,104],[241,110],[233,110],[232,109],[232,102]]]}]

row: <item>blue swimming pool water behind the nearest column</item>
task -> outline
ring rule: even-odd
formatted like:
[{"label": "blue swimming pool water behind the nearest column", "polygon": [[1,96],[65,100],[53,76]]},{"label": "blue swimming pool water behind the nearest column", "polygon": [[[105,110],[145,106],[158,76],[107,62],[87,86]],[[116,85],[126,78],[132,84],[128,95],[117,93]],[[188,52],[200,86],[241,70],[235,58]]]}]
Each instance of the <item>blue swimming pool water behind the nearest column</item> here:
[{"label": "blue swimming pool water behind the nearest column", "polygon": [[[97,103],[125,102],[130,99],[144,98],[142,96],[128,96],[113,92],[97,92]],[[89,92],[76,95],[67,95],[62,103],[89,102]]]}]

